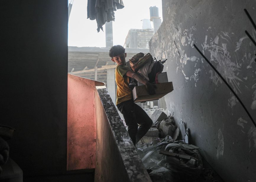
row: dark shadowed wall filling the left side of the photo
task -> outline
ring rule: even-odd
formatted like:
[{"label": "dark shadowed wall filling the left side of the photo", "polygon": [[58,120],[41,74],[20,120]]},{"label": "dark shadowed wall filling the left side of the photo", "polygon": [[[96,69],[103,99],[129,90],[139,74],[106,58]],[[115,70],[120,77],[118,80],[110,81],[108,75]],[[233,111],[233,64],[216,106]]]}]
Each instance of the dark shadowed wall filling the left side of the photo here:
[{"label": "dark shadowed wall filling the left side of the photo", "polygon": [[1,124],[24,176],[66,172],[67,1],[1,2]]}]

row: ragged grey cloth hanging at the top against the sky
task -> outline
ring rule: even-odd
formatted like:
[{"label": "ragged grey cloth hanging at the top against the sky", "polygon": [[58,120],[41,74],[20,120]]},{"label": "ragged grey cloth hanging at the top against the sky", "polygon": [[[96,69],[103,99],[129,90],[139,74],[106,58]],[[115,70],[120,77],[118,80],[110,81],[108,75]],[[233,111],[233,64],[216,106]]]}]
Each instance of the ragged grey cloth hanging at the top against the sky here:
[{"label": "ragged grey cloth hanging at the top against the sky", "polygon": [[124,8],[122,0],[88,0],[87,2],[87,18],[97,22],[97,31],[103,31],[103,25],[110,21],[115,21],[115,13],[117,9]]}]

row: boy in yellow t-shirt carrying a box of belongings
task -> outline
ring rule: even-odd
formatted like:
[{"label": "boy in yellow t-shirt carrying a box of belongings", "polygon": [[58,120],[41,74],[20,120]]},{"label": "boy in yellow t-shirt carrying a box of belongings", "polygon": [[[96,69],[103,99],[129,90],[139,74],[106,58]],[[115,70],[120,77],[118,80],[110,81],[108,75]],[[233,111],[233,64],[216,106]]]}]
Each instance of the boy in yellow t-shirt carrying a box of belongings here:
[{"label": "boy in yellow t-shirt carrying a box of belongings", "polygon": [[[129,78],[134,78],[146,86],[150,95],[155,94],[155,85],[148,82],[138,73],[133,72],[127,67],[125,62],[126,53],[124,47],[115,45],[109,50],[109,56],[116,62],[116,106],[123,114],[128,133],[134,145],[148,132],[152,126],[152,120],[147,113],[133,102],[132,90],[128,87]],[[140,127],[138,128],[138,124]]]}]

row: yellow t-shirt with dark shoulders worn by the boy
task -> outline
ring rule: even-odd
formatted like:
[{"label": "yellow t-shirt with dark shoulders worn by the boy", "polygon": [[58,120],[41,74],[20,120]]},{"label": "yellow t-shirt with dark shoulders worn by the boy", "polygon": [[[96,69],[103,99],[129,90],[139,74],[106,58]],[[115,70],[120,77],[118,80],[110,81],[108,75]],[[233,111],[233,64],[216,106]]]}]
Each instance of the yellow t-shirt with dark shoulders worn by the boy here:
[{"label": "yellow t-shirt with dark shoulders worn by the boy", "polygon": [[117,65],[116,76],[116,105],[126,100],[132,99],[132,90],[129,88],[129,77],[125,74],[130,71],[127,65]]}]

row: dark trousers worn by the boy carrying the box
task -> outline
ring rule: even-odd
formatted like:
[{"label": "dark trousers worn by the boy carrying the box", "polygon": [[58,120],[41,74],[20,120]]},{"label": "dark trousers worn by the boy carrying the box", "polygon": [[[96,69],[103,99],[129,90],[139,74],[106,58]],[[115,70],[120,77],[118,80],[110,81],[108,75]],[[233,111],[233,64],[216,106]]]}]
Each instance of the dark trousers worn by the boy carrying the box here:
[{"label": "dark trousers worn by the boy carrying the box", "polygon": [[[128,133],[135,145],[148,132],[153,122],[148,114],[133,100],[121,102],[116,106],[124,116],[125,123],[128,126]],[[139,128],[138,124],[140,124]]]}]

